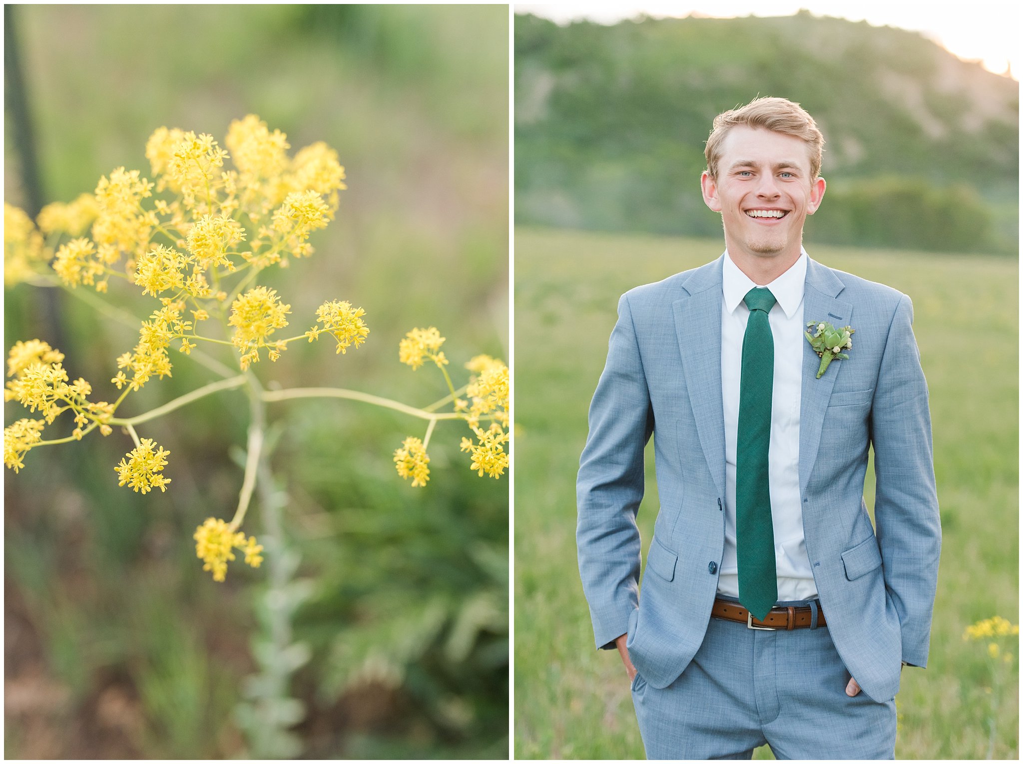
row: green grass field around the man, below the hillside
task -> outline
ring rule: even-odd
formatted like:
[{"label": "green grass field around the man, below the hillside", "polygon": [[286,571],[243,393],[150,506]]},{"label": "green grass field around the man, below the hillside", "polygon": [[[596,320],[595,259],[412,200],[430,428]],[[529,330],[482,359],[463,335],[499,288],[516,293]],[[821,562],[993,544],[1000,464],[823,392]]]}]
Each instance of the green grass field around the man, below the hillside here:
[{"label": "green grass field around the man, below the hillside", "polygon": [[[515,706],[520,758],[634,759],[642,743],[615,653],[593,649],[576,567],[575,477],[617,298],[716,258],[719,240],[520,228],[516,234]],[[944,543],[927,669],[902,672],[896,758],[1018,758],[1014,659],[966,626],[1018,622],[1018,270],[984,256],[814,246],[819,262],[909,295],[931,395]],[[648,449],[643,550],[658,497]],[[873,473],[868,474],[873,504]],[[1017,653],[1017,646],[1011,648]],[[772,758],[766,747],[755,758]]]}]

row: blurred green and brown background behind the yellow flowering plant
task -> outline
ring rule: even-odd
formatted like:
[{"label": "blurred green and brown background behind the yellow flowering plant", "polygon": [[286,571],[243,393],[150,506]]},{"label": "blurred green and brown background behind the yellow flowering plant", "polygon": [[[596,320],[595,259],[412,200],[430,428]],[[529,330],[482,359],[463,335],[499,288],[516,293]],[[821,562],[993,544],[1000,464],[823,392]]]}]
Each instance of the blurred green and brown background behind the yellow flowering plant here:
[{"label": "blurred green and brown background behind the yellow flowering plant", "polygon": [[[158,127],[212,133],[255,113],[338,150],[348,175],[311,260],[268,277],[302,325],[326,300],[366,310],[355,353],[299,345],[256,373],[274,387],[336,386],[426,405],[447,392],[398,363],[413,326],[448,338],[455,385],[479,353],[507,360],[507,9],[504,6],[16,6],[44,201],[92,191],[119,166],[149,176]],[[5,199],[25,204],[10,114]],[[137,290],[114,302],[141,315]],[[5,290],[5,343],[60,348],[73,376],[112,386],[136,331],[57,294]],[[436,372],[436,370],[434,370]],[[459,381],[459,377],[460,381]],[[132,397],[144,411],[212,377]],[[6,421],[21,413],[7,406]],[[481,479],[441,422],[431,482],[412,489],[391,455],[419,420],[349,401],[271,404],[285,534],[308,598],[293,618],[311,660],[294,673],[293,727],[308,758],[507,755],[505,479]],[[265,571],[202,572],[191,539],[230,516],[248,408],[221,393],[154,420],[171,451],[166,494],[118,488],[120,432],[40,449],[5,474],[5,754],[8,758],[260,755],[237,722],[258,668]],[[247,530],[259,536],[261,516]],[[298,591],[298,590],[297,590]],[[272,603],[271,603],[271,606]]]}]

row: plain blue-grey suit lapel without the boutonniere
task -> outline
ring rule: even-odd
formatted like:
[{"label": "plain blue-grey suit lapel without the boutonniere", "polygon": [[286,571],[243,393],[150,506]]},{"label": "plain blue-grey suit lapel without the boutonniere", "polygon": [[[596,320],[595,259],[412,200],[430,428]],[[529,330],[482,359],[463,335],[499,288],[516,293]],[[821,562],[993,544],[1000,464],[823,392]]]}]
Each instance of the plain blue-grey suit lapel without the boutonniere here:
[{"label": "plain blue-grey suit lapel without the boutonniere", "polygon": [[672,304],[685,387],[707,465],[724,496],[724,408],[721,404],[722,258],[683,284],[688,296]]}]

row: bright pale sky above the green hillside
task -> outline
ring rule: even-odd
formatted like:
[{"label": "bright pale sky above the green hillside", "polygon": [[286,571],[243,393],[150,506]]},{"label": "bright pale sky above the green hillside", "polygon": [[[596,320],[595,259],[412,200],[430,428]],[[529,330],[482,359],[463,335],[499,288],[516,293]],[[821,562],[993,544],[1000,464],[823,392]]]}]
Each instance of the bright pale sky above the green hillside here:
[{"label": "bright pale sky above the green hillside", "polygon": [[614,24],[639,13],[651,16],[685,16],[691,12],[730,17],[787,16],[800,8],[815,15],[865,19],[878,27],[885,25],[921,32],[960,58],[980,60],[985,69],[1003,74],[1012,65],[1020,74],[1020,11],[1016,2],[970,0],[970,2],[906,2],[905,0],[717,0],[716,2],[565,2],[516,3],[516,12],[530,12],[562,24],[588,18]]}]

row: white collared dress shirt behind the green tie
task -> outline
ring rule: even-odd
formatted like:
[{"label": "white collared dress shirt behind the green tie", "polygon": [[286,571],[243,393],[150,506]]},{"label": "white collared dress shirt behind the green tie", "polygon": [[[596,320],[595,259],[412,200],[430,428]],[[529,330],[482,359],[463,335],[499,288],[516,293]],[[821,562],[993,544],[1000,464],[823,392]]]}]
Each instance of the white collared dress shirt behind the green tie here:
[{"label": "white collared dress shirt behind the green tie", "polygon": [[[801,250],[789,270],[767,288],[777,300],[767,314],[774,339],[774,388],[771,395],[770,446],[767,471],[771,523],[774,530],[774,567],[779,600],[809,599],[817,587],[803,537],[803,509],[799,500],[799,405],[803,384],[803,288],[806,251]],[[724,404],[724,556],[717,591],[739,597],[736,557],[736,445],[739,434],[739,390],[743,370],[743,336],[750,309],[743,298],[757,286],[739,270],[727,252],[721,272],[721,399]]]}]

